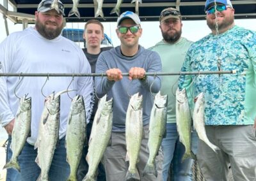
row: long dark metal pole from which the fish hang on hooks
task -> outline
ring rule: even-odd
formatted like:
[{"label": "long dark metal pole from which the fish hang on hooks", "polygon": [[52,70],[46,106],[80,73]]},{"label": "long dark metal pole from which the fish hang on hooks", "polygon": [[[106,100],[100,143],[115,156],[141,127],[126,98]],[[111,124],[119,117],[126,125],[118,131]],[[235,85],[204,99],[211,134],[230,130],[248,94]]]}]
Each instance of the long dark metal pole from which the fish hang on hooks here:
[{"label": "long dark metal pole from which the fish hang on hooks", "polygon": [[[145,73],[146,76],[166,76],[166,75],[220,75],[235,74],[236,70],[231,71],[190,71],[173,73]],[[0,73],[0,76],[107,76],[106,73]],[[122,73],[122,76],[129,76],[129,73]]]}]

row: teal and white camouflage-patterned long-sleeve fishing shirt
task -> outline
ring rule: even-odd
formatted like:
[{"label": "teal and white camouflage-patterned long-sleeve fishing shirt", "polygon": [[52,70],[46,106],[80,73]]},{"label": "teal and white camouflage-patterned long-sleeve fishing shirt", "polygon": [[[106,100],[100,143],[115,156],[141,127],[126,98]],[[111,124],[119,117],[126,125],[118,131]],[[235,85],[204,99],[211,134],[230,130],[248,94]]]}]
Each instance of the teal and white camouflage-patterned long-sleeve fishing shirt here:
[{"label": "teal and white camouflage-patterned long-sleeve fishing shirt", "polygon": [[[218,61],[220,59],[221,61]],[[219,62],[219,67],[218,67]],[[256,116],[256,32],[235,25],[191,45],[181,71],[230,71],[223,75],[182,75],[179,89],[192,98],[205,94],[206,125],[248,125]]]}]

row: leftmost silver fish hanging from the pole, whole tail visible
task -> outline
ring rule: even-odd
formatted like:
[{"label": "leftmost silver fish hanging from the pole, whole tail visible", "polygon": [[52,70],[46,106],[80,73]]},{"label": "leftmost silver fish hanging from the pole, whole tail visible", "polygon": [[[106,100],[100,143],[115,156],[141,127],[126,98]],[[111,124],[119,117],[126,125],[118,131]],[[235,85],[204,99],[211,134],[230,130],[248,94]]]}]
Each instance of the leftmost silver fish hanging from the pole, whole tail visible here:
[{"label": "leftmost silver fish hanging from the pole, whole tail visible", "polygon": [[28,95],[25,95],[20,98],[19,108],[15,116],[12,131],[12,143],[10,146],[12,149],[12,157],[10,161],[4,165],[4,168],[15,168],[19,172],[20,165],[18,157],[26,143],[29,133],[31,133],[31,97],[26,98],[27,96]]}]

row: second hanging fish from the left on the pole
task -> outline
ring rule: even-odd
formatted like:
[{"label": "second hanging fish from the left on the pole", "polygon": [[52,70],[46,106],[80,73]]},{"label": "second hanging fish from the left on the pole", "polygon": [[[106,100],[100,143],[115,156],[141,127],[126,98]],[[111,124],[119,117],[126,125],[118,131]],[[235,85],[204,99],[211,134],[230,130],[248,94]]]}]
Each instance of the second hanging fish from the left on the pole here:
[{"label": "second hanging fish from the left on the pole", "polygon": [[45,98],[44,110],[40,120],[38,137],[35,143],[37,157],[35,162],[41,168],[41,173],[37,180],[49,180],[49,170],[52,157],[59,140],[60,129],[60,95],[68,92],[60,91],[57,94],[52,92]]}]

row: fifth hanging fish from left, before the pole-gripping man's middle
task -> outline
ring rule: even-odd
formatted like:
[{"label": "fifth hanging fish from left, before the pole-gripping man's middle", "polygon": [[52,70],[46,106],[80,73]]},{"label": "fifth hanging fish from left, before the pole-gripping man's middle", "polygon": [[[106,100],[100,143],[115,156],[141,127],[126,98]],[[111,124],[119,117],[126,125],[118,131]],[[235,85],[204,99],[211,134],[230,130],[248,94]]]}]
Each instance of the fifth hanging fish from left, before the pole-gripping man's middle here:
[{"label": "fifth hanging fish from left, before the pole-gripping man's middle", "polygon": [[126,141],[126,161],[129,161],[129,168],[125,180],[140,180],[140,175],[136,168],[138,163],[140,146],[143,135],[143,96],[139,93],[131,96],[125,118],[125,141]]}]

